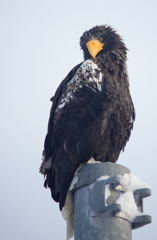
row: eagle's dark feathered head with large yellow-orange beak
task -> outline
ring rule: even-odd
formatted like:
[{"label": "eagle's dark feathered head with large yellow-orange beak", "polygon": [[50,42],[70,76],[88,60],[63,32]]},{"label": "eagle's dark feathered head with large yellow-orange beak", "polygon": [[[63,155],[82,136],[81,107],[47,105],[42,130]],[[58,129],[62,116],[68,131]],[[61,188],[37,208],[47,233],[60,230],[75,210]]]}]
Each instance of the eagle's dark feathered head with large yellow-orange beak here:
[{"label": "eagle's dark feathered head with large yellow-orange beak", "polygon": [[111,50],[120,49],[125,54],[127,51],[122,38],[112,27],[107,25],[96,26],[85,31],[80,38],[80,46],[85,60],[95,59],[96,56],[108,53]]}]

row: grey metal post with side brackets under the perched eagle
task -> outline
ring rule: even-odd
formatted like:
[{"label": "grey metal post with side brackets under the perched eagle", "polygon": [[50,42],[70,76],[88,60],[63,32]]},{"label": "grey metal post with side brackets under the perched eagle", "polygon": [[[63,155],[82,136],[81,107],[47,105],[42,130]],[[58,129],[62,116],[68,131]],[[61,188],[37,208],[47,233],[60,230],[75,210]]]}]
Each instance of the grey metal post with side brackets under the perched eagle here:
[{"label": "grey metal post with side brackets under the perched eagle", "polygon": [[[88,174],[87,174],[88,173]],[[119,175],[130,170],[113,163],[86,164],[79,170],[79,180],[74,188],[75,240],[131,240],[132,229],[151,222],[142,215],[131,221],[115,203],[125,190],[120,186]],[[103,177],[102,177],[103,176]],[[142,211],[142,200],[150,189],[139,189],[135,200]],[[140,208],[141,206],[141,208]]]}]

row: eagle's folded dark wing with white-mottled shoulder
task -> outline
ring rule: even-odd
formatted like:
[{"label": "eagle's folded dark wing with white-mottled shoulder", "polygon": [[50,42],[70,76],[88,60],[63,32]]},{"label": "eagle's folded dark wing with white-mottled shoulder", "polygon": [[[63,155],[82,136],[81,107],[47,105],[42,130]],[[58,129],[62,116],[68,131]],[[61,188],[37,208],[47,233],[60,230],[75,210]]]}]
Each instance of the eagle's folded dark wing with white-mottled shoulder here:
[{"label": "eagle's folded dark wing with white-mottled shoulder", "polygon": [[[91,61],[86,64],[89,74]],[[83,67],[79,66],[56,91],[45,140],[45,156],[47,159],[52,156],[52,168],[46,174],[46,182],[54,200],[60,202],[60,209],[76,169],[93,156],[100,134],[98,121],[104,94],[94,82],[96,71],[92,69],[89,81]],[[99,79],[98,75],[96,81]]]}]

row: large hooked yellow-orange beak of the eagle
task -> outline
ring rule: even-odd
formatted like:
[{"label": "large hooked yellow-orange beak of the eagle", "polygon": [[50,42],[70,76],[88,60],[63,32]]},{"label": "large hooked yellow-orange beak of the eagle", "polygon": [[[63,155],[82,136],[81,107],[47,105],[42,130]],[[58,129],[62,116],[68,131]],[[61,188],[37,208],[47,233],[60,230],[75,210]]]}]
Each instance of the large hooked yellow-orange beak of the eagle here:
[{"label": "large hooked yellow-orange beak of the eagle", "polygon": [[91,40],[87,43],[88,51],[94,59],[98,52],[103,49],[103,45],[104,43],[101,43],[99,40]]}]

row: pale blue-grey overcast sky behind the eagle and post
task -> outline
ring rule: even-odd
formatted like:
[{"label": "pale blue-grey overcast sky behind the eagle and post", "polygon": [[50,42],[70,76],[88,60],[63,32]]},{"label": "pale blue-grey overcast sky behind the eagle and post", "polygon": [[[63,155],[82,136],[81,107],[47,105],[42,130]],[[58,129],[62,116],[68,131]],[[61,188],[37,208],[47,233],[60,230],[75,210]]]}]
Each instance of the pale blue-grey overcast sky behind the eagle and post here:
[{"label": "pale blue-grey overcast sky behind the eagle and post", "polygon": [[66,223],[38,173],[51,102],[83,60],[79,38],[109,24],[123,37],[136,122],[118,163],[152,188],[153,223],[133,240],[156,240],[157,1],[0,1],[0,239],[65,239]]}]

